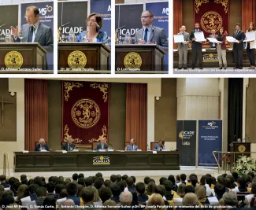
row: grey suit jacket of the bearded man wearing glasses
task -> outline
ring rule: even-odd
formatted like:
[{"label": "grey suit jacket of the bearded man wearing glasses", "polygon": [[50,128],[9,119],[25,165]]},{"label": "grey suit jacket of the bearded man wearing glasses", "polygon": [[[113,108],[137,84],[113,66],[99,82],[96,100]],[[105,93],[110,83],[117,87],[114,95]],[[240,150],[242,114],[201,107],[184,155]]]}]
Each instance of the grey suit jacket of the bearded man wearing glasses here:
[{"label": "grey suit jacket of the bearded man wearing glasses", "polygon": [[[143,28],[139,29],[139,31],[135,31],[135,44],[139,43],[139,39],[143,37]],[[167,36],[165,35],[165,30],[163,28],[158,28],[152,26],[152,31],[150,33],[149,42],[156,41],[158,46],[161,47],[162,50],[165,50],[168,53],[169,44]]]}]

